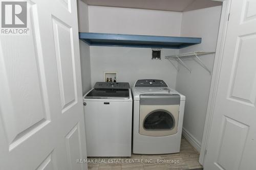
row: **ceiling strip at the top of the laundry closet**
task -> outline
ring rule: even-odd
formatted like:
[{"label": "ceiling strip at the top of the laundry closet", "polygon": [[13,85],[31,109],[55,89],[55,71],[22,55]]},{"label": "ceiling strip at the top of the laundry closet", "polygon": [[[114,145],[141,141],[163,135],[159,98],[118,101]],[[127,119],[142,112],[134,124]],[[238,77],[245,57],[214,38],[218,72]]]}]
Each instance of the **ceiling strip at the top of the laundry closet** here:
[{"label": "ceiling strip at the top of the laundry closet", "polygon": [[222,2],[211,0],[82,0],[88,5],[139,8],[164,11],[191,11],[222,5]]}]

